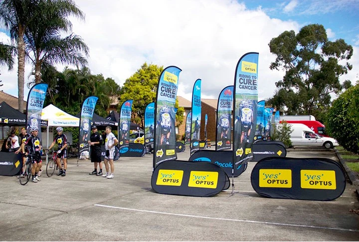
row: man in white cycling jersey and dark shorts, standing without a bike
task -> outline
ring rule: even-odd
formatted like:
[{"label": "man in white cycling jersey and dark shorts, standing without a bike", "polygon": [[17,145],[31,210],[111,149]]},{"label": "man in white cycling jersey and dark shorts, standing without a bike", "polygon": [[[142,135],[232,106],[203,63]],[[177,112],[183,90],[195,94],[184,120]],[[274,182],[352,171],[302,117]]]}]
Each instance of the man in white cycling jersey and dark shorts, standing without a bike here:
[{"label": "man in white cycling jersey and dark shorts, standing without a bike", "polygon": [[[106,140],[105,140],[105,167],[106,167],[106,174],[102,175],[102,177],[107,177],[108,179],[114,178],[114,171],[115,165],[113,162],[114,154],[115,154],[115,146],[118,144],[118,140],[116,139],[115,135],[112,133],[112,128],[110,126],[106,127]],[[109,164],[111,168],[111,173],[109,170]]]}]

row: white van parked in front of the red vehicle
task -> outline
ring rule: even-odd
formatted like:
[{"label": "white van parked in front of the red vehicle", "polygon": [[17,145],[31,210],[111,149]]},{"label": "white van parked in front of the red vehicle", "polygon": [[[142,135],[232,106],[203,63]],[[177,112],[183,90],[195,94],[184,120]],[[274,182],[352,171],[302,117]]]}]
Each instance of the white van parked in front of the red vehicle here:
[{"label": "white van parked in front of the red vehicle", "polygon": [[292,133],[290,140],[292,146],[324,146],[327,149],[332,149],[338,146],[338,141],[330,137],[322,137],[313,132],[307,125],[304,124],[288,124],[291,126]]}]

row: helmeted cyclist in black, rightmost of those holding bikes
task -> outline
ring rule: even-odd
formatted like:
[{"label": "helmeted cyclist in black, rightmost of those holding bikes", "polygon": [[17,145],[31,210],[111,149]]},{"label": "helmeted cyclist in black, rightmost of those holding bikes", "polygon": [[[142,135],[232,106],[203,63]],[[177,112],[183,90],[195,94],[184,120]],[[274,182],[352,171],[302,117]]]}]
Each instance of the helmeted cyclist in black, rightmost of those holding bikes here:
[{"label": "helmeted cyclist in black, rightmost of those holding bikes", "polygon": [[[62,130],[63,130],[62,127],[56,128],[57,135],[54,138],[54,141],[52,142],[48,150],[51,149],[55,145],[55,143],[57,143],[58,151],[57,151],[56,163],[58,168],[60,169],[60,172],[57,174],[57,176],[61,175],[64,177],[66,176],[66,168],[67,168],[67,137],[62,133]],[[64,162],[63,170],[60,162],[61,158],[63,159]]]}]

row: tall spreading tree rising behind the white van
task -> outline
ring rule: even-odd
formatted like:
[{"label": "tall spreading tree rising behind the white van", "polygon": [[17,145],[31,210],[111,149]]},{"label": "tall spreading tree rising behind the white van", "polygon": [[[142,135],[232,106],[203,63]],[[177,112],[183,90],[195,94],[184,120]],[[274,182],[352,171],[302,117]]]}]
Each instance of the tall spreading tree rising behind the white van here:
[{"label": "tall spreading tree rising behind the white van", "polygon": [[276,60],[272,70],[285,70],[282,80],[276,82],[275,95],[266,103],[288,114],[308,114],[321,119],[331,104],[331,93],[340,93],[348,82],[341,84],[339,77],[348,73],[352,65],[339,64],[349,60],[353,47],[343,39],[329,41],[323,25],[309,24],[299,33],[284,31],[269,43]]}]

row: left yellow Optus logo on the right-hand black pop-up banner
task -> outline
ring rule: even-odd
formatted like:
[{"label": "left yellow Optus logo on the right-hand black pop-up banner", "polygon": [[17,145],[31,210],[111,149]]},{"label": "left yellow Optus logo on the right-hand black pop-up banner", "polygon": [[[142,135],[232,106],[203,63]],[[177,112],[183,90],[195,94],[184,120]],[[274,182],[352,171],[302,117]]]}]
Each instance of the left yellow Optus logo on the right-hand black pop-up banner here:
[{"label": "left yellow Optus logo on the right-hand black pop-up banner", "polygon": [[291,188],[292,170],[289,169],[260,169],[259,187],[261,188]]}]

